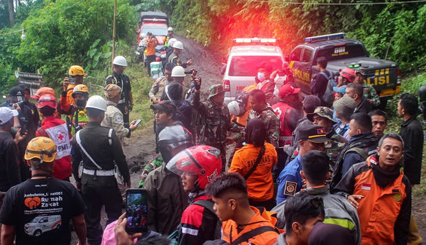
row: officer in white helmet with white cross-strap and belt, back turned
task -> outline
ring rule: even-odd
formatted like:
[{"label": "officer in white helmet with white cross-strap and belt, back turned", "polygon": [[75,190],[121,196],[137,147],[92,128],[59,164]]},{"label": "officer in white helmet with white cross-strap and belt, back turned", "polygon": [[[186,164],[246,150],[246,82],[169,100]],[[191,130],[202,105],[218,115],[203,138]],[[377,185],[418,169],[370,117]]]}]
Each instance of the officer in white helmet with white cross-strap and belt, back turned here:
[{"label": "officer in white helmet with white cross-strap and belt, back turned", "polygon": [[[88,242],[99,245],[102,239],[102,205],[108,216],[106,224],[117,220],[122,211],[122,196],[114,178],[115,170],[120,170],[128,188],[131,187],[131,180],[120,140],[113,129],[100,126],[106,111],[105,100],[93,95],[87,101],[86,110],[89,123],[73,139],[72,167],[77,188],[82,191],[87,205],[85,220]],[[79,166],[80,161],[82,166]]]}]

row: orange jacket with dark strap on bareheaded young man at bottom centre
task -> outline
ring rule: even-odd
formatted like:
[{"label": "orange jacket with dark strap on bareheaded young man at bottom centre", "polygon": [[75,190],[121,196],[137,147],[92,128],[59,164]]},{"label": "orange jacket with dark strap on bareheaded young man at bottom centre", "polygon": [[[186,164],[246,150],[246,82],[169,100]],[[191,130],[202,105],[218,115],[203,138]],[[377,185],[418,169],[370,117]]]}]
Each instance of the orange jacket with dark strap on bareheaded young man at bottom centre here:
[{"label": "orange jacket with dark strap on bareheaded young man at bottom centre", "polygon": [[238,242],[238,244],[272,245],[276,243],[277,237],[281,231],[274,226],[277,219],[271,217],[271,214],[275,212],[262,211],[262,213],[260,213],[259,209],[256,209],[256,207],[251,207],[251,209],[253,209],[256,215],[254,215],[249,224],[240,232],[238,232],[238,224],[234,220],[222,222],[223,241],[228,244],[237,244],[236,240],[238,237],[243,238],[242,236],[245,235],[245,233],[249,233],[254,229],[260,229],[257,234],[249,235],[247,239],[243,239],[243,241]]}]

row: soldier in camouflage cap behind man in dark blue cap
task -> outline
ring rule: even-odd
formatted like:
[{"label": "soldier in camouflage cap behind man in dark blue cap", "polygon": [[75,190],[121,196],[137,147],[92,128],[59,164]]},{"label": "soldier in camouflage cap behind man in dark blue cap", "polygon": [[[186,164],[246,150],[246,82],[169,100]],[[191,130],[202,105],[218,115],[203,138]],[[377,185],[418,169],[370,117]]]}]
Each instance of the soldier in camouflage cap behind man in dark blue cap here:
[{"label": "soldier in camouflage cap behind man in dark blue cap", "polygon": [[308,117],[313,124],[322,126],[326,130],[326,136],[330,140],[326,141],[324,146],[326,148],[326,154],[334,165],[337,156],[339,156],[348,141],[337,134],[333,129],[333,124],[337,123],[337,121],[333,119],[333,110],[325,106],[318,106],[313,113],[308,114],[306,117]]}]

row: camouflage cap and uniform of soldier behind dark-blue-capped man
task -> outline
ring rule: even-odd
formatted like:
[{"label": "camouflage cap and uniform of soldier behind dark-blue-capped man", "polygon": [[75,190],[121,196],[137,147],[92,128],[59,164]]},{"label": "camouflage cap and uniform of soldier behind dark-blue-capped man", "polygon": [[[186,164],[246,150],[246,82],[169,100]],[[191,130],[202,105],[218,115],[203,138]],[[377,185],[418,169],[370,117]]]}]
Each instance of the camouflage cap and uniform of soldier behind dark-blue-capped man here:
[{"label": "camouflage cap and uniform of soldier behind dark-blue-capped man", "polygon": [[[312,114],[307,115],[310,121],[313,121],[313,115],[319,115],[320,117],[324,117],[330,121],[333,121],[333,123],[337,123],[337,121],[333,119],[333,110],[328,107],[318,106],[317,108],[315,108]],[[327,132],[326,136],[328,139],[330,139],[329,141],[326,141],[324,143],[324,146],[326,148],[326,154],[330,158],[330,161],[333,162],[332,167],[334,167],[337,156],[339,156],[340,152],[346,146],[348,140],[337,134],[333,127],[331,128],[330,132]]]}]

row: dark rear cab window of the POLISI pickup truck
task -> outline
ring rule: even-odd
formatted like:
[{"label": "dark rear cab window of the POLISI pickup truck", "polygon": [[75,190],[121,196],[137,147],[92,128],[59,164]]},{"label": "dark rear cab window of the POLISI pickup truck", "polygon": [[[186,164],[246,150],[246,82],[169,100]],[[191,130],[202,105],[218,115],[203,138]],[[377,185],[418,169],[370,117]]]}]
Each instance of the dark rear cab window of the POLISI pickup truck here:
[{"label": "dark rear cab window of the POLISI pickup truck", "polygon": [[318,51],[317,57],[325,57],[328,61],[330,60],[341,60],[345,58],[354,58],[360,56],[367,56],[366,52],[361,45],[345,45],[329,47]]}]

